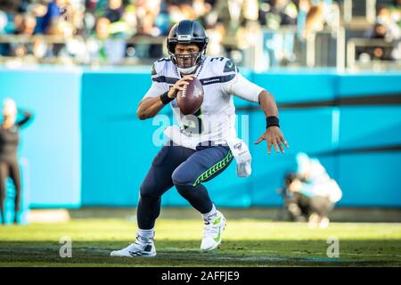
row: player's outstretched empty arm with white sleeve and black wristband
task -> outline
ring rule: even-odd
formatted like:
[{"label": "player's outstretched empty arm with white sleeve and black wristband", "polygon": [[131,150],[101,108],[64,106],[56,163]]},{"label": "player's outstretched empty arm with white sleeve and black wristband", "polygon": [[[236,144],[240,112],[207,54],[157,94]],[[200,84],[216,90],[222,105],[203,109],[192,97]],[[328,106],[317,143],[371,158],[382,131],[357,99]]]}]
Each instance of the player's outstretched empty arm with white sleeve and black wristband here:
[{"label": "player's outstretched empty arm with white sleeve and black wristband", "polygon": [[285,141],[282,131],[280,130],[277,104],[275,103],[272,94],[268,93],[262,87],[250,82],[247,78],[242,77],[241,73],[236,74],[233,82],[228,85],[227,92],[250,102],[258,102],[264,111],[266,115],[266,131],[258,138],[258,141],[255,142],[255,144],[265,140],[267,142],[268,154],[271,153],[272,145],[276,152],[279,152],[280,148],[282,153],[284,153],[282,143],[289,148],[289,145]]}]

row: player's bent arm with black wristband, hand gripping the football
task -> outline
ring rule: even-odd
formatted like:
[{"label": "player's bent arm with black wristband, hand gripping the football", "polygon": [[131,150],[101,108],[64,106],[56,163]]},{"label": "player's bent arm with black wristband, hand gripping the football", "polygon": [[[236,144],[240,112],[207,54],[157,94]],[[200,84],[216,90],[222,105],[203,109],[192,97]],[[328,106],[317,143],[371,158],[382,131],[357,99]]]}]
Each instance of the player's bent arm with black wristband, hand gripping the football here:
[{"label": "player's bent arm with black wristband, hand gripping the football", "polygon": [[176,82],[168,92],[162,93],[156,83],[151,85],[148,93],[139,102],[136,115],[139,119],[153,118],[164,106],[176,98],[179,90],[183,90],[184,85],[188,85],[188,80],[192,80],[193,75],[187,75]]}]

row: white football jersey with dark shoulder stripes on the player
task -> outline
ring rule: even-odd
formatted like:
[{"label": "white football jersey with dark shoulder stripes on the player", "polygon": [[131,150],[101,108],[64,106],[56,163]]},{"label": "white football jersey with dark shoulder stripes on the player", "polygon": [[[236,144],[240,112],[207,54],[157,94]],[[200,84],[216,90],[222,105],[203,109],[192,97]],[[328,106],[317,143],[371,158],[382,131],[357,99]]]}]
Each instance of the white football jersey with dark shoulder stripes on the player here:
[{"label": "white football jersey with dark shoulder stripes on the player", "polygon": [[[201,81],[204,91],[201,109],[193,115],[184,116],[176,100],[170,102],[181,131],[197,142],[226,144],[226,139],[237,136],[232,94],[250,102],[258,102],[258,94],[263,88],[242,77],[233,61],[225,57],[206,56],[195,76]],[[169,59],[154,62],[152,85],[143,98],[168,92],[180,78],[182,76],[176,65]]]}]

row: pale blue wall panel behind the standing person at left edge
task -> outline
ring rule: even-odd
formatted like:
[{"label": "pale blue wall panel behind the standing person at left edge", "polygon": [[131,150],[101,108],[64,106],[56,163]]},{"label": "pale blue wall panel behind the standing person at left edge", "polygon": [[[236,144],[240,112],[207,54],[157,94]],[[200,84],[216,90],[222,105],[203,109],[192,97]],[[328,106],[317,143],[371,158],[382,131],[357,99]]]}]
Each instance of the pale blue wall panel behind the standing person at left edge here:
[{"label": "pale blue wall panel behind the standing person at left edge", "polygon": [[29,160],[32,207],[81,205],[81,70],[0,69],[0,100],[14,99],[34,114],[20,132]]}]

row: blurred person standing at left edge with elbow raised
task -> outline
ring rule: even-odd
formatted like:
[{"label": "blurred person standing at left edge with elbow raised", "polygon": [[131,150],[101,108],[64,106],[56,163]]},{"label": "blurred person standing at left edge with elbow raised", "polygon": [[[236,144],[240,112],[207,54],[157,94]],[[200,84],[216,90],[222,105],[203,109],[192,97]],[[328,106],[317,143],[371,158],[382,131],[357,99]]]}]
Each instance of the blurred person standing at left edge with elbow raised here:
[{"label": "blurred person standing at left edge with elbow raised", "polygon": [[[17,116],[22,115],[19,121]],[[0,215],[4,220],[4,200],[6,178],[10,177],[15,187],[14,224],[18,223],[20,211],[20,167],[18,165],[17,149],[20,142],[20,128],[31,118],[28,111],[17,109],[12,99],[6,98],[3,102],[3,121],[0,125]]]}]

